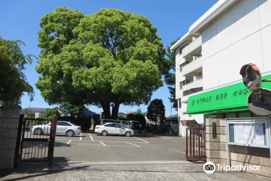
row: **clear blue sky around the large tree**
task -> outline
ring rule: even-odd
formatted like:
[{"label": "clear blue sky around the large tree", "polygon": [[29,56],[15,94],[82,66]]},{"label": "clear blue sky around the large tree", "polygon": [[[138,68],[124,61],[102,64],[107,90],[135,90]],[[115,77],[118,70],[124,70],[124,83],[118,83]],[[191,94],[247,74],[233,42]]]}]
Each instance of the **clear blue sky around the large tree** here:
[{"label": "clear blue sky around the large tree", "polygon": [[[212,7],[217,0],[179,0],[179,1],[160,1],[160,0],[138,0],[138,1],[93,1],[93,0],[47,0],[47,1],[2,1],[0,11],[0,35],[7,40],[22,40],[26,47],[22,46],[24,54],[33,53],[39,55],[40,48],[38,43],[38,30],[40,29],[40,18],[55,10],[56,7],[69,9],[78,9],[85,15],[93,14],[101,8],[118,8],[122,11],[129,11],[148,17],[153,26],[157,27],[157,33],[162,38],[164,47],[170,44],[178,37],[182,37],[188,32],[188,28]],[[36,89],[35,83],[39,75],[36,73],[36,60],[32,65],[26,65],[25,75],[30,85],[35,91],[35,99],[30,103],[27,95],[22,97],[22,107],[29,105],[32,107],[47,108],[49,106],[41,97],[39,90]],[[152,99],[160,98],[166,107],[166,115],[170,116],[170,96],[167,86],[160,87],[153,93]],[[142,111],[147,110],[147,106],[140,106]],[[138,107],[120,106],[120,112],[136,111]],[[89,106],[93,112],[102,112],[95,106]],[[172,115],[177,111],[172,109]]]}]

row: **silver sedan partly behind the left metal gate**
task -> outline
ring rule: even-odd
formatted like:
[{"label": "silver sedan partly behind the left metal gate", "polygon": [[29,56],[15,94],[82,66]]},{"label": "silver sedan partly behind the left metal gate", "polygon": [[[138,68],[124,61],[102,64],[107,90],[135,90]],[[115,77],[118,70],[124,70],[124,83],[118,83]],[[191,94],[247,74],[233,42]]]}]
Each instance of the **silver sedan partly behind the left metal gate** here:
[{"label": "silver sedan partly behind the left metal gate", "polygon": [[[51,123],[46,125],[35,125],[31,128],[31,133],[35,135],[50,134]],[[77,126],[71,122],[58,121],[56,134],[58,135],[67,135],[69,137],[73,135],[78,135],[81,133],[81,126]]]}]

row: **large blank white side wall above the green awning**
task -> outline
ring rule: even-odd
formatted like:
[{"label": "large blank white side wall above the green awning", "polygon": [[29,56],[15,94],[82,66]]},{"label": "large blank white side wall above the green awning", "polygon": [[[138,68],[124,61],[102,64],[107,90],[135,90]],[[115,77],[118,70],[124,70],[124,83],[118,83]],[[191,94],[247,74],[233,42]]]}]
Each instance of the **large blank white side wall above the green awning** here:
[{"label": "large blank white side wall above the green awning", "polygon": [[271,70],[271,0],[239,0],[202,29],[203,88],[241,79],[240,68]]}]

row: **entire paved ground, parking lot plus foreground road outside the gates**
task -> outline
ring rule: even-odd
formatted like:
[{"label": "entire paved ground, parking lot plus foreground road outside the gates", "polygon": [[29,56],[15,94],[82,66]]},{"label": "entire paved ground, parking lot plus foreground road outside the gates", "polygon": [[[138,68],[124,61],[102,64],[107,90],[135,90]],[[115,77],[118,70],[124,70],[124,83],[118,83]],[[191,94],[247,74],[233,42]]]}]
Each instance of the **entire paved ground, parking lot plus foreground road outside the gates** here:
[{"label": "entire paved ground, parking lot plus foreground road outside the gates", "polygon": [[[29,156],[32,150],[26,152]],[[94,132],[83,132],[74,137],[57,135],[55,166],[47,167],[47,164],[21,162],[17,168],[0,170],[0,181],[268,180],[244,172],[207,174],[203,164],[186,161],[185,139],[176,135],[104,137]]]}]

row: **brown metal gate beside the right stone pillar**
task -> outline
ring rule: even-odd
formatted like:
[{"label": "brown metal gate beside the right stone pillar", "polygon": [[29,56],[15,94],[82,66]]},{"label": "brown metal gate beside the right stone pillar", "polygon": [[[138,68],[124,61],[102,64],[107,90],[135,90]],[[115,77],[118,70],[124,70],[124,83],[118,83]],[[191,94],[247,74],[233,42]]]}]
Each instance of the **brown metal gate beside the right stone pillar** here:
[{"label": "brown metal gate beside the right stone pillar", "polygon": [[[188,135],[189,132],[189,135]],[[189,144],[188,144],[189,143]],[[188,147],[189,146],[189,147]],[[186,128],[186,152],[187,160],[206,162],[206,127],[200,124],[191,124]]]}]

